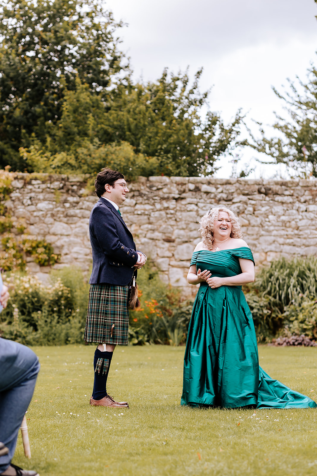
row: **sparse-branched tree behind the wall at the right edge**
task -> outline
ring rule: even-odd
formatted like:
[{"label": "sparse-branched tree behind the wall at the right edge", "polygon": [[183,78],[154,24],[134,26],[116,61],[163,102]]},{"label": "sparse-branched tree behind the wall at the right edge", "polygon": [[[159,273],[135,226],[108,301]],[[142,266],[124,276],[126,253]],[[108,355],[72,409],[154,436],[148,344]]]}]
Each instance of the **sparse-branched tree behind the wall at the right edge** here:
[{"label": "sparse-branched tree behind the wall at the right edge", "polygon": [[285,164],[299,177],[317,177],[317,69],[308,69],[306,83],[297,79],[300,92],[289,79],[290,90],[284,95],[273,88],[288,113],[288,119],[276,114],[273,128],[279,131],[279,137],[268,139],[259,123],[261,139],[250,133],[253,142],[248,145],[273,158],[266,163]]}]

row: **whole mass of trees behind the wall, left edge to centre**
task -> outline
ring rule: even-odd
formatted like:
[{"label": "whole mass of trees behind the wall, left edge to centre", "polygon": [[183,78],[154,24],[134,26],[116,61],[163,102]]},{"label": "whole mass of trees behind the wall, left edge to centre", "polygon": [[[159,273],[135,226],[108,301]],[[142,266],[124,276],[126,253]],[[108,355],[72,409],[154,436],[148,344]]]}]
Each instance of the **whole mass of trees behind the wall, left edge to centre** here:
[{"label": "whole mass of trees behind the wall, left edge to centre", "polygon": [[[0,9],[0,165],[96,174],[212,174],[240,133],[201,109],[198,71],[133,84],[112,14],[93,0],[10,0]],[[118,74],[120,73],[120,74]],[[18,152],[20,150],[20,153]]]}]

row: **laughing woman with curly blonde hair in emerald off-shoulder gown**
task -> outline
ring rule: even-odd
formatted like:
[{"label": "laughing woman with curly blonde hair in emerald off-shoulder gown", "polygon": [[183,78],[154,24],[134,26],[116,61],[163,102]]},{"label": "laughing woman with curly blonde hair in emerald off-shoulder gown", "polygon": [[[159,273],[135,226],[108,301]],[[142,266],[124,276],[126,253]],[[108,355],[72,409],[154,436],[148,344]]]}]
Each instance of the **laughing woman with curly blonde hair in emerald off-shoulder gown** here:
[{"label": "laughing woman with curly blonde hair in emerald off-shoulder gown", "polygon": [[317,404],[259,367],[257,339],[242,284],[254,281],[254,259],[231,210],[212,208],[187,275],[200,284],[189,325],[181,405],[307,408]]}]

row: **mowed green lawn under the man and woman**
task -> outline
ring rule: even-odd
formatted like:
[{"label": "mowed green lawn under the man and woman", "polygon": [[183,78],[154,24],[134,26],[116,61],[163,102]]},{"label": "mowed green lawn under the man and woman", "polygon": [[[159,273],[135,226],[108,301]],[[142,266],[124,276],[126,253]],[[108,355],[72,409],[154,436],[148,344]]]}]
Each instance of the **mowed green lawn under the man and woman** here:
[{"label": "mowed green lawn under the man and woman", "polygon": [[[40,476],[316,475],[317,410],[180,407],[184,347],[115,349],[108,392],[129,409],[90,407],[95,347],[36,347],[41,370],[13,462]],[[259,347],[260,365],[317,397],[317,349]]]}]

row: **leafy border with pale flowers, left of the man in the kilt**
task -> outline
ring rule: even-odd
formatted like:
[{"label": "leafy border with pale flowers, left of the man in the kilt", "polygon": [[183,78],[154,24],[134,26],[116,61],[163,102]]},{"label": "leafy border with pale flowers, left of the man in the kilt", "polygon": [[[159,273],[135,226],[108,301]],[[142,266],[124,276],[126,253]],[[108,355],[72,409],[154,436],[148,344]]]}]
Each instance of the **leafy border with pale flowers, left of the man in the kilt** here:
[{"label": "leafy border with pale flowers, left of the man in the kilt", "polygon": [[89,285],[79,269],[52,273],[49,286],[21,273],[11,273],[5,282],[13,290],[0,315],[3,337],[28,345],[82,341]]}]

